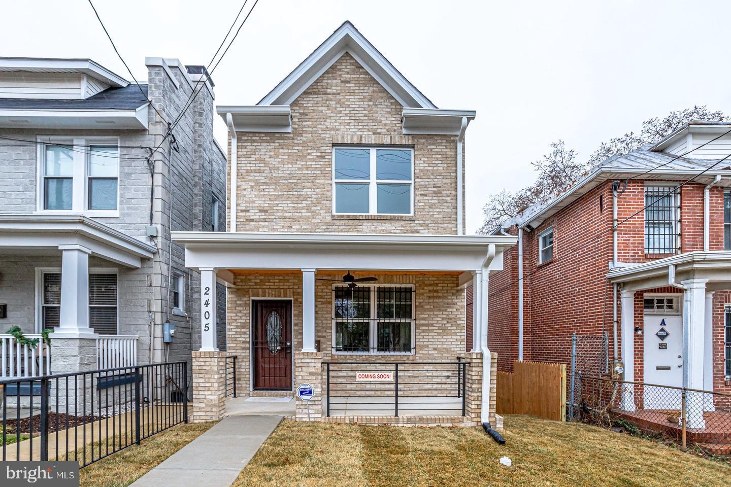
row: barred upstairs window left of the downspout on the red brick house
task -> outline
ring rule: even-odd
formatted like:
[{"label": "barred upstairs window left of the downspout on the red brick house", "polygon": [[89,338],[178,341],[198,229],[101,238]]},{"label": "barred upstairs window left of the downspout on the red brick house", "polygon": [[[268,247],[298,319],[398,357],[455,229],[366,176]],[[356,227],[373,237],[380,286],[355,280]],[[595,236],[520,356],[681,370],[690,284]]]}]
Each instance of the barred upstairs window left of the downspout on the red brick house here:
[{"label": "barred upstairs window left of the downspout on the red brick house", "polygon": [[645,253],[678,251],[677,201],[673,188],[645,187]]}]

